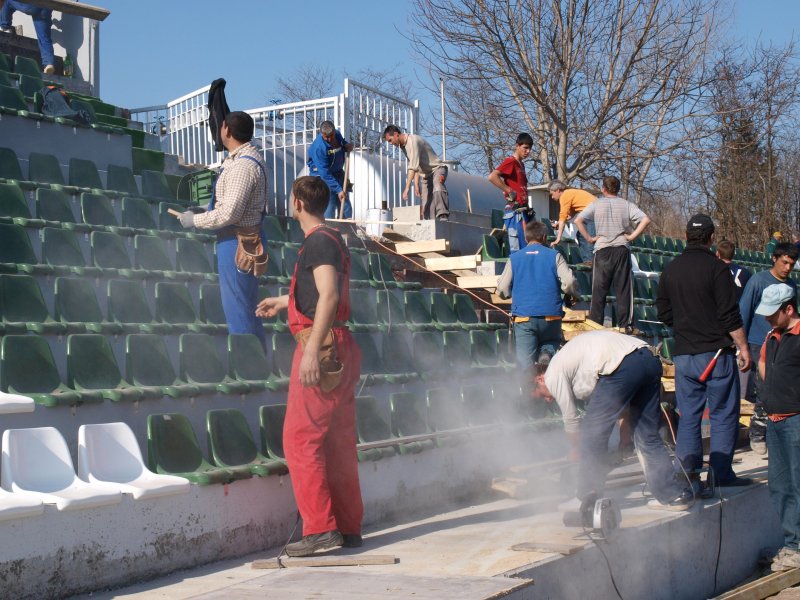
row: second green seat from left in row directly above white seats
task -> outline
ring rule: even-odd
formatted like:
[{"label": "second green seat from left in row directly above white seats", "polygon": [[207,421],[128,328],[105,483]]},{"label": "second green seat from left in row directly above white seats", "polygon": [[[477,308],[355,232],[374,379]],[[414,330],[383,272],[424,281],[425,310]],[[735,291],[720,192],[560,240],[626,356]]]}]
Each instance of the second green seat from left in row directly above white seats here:
[{"label": "second green seat from left in row directly above white seats", "polygon": [[85,399],[138,402],[160,397],[155,390],[132,387],[122,378],[108,338],[96,333],[67,336],[67,383]]}]

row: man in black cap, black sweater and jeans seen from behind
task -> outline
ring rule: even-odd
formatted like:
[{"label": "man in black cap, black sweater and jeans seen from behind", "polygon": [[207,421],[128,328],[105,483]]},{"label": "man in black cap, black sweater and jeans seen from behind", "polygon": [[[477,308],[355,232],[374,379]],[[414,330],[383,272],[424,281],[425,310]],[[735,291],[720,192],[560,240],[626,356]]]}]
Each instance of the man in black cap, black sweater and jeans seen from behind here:
[{"label": "man in black cap, black sweater and jeans seen from behind", "polygon": [[[711,420],[710,466],[721,486],[748,485],[731,468],[739,433],[738,368],[751,366],[750,350],[728,266],[711,253],[714,222],[694,215],[686,224],[686,249],[661,273],[658,318],[675,331],[675,399],[681,418],[675,454],[700,491],[703,465],[700,423],[708,401]],[[701,374],[717,362],[707,379]]]}]

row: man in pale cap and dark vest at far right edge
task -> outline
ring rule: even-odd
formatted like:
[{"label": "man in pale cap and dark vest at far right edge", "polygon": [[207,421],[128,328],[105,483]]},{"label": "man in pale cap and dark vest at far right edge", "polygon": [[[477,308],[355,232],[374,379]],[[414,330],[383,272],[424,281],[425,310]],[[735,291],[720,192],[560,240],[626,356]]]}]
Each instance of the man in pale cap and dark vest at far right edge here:
[{"label": "man in pale cap and dark vest at far right edge", "polygon": [[800,316],[794,288],[785,283],[767,287],[756,314],[772,326],[758,371],[768,417],[769,494],[784,540],[770,568],[788,571],[800,567]]}]

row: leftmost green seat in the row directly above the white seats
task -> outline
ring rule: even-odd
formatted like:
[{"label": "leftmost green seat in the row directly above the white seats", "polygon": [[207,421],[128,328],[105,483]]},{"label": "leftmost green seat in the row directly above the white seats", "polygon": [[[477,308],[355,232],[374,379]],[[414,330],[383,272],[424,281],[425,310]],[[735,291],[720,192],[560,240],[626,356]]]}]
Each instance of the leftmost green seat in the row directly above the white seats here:
[{"label": "leftmost green seat in the row directly above the white seats", "polygon": [[85,400],[61,381],[50,345],[38,335],[0,338],[0,390],[43,406],[76,406]]}]

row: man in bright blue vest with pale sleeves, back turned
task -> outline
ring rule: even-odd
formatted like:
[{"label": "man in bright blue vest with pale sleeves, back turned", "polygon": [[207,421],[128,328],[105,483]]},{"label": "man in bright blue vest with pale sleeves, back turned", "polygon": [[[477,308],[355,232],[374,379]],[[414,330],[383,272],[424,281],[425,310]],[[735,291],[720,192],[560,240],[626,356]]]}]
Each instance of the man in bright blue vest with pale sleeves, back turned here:
[{"label": "man in bright blue vest with pale sleeves, back turned", "polygon": [[[517,364],[527,370],[540,353],[550,356],[561,345],[561,292],[578,296],[578,284],[557,250],[545,245],[547,227],[540,221],[525,225],[528,245],[514,252],[497,283],[501,297],[511,297]],[[512,294],[513,290],[513,294]]]}]

